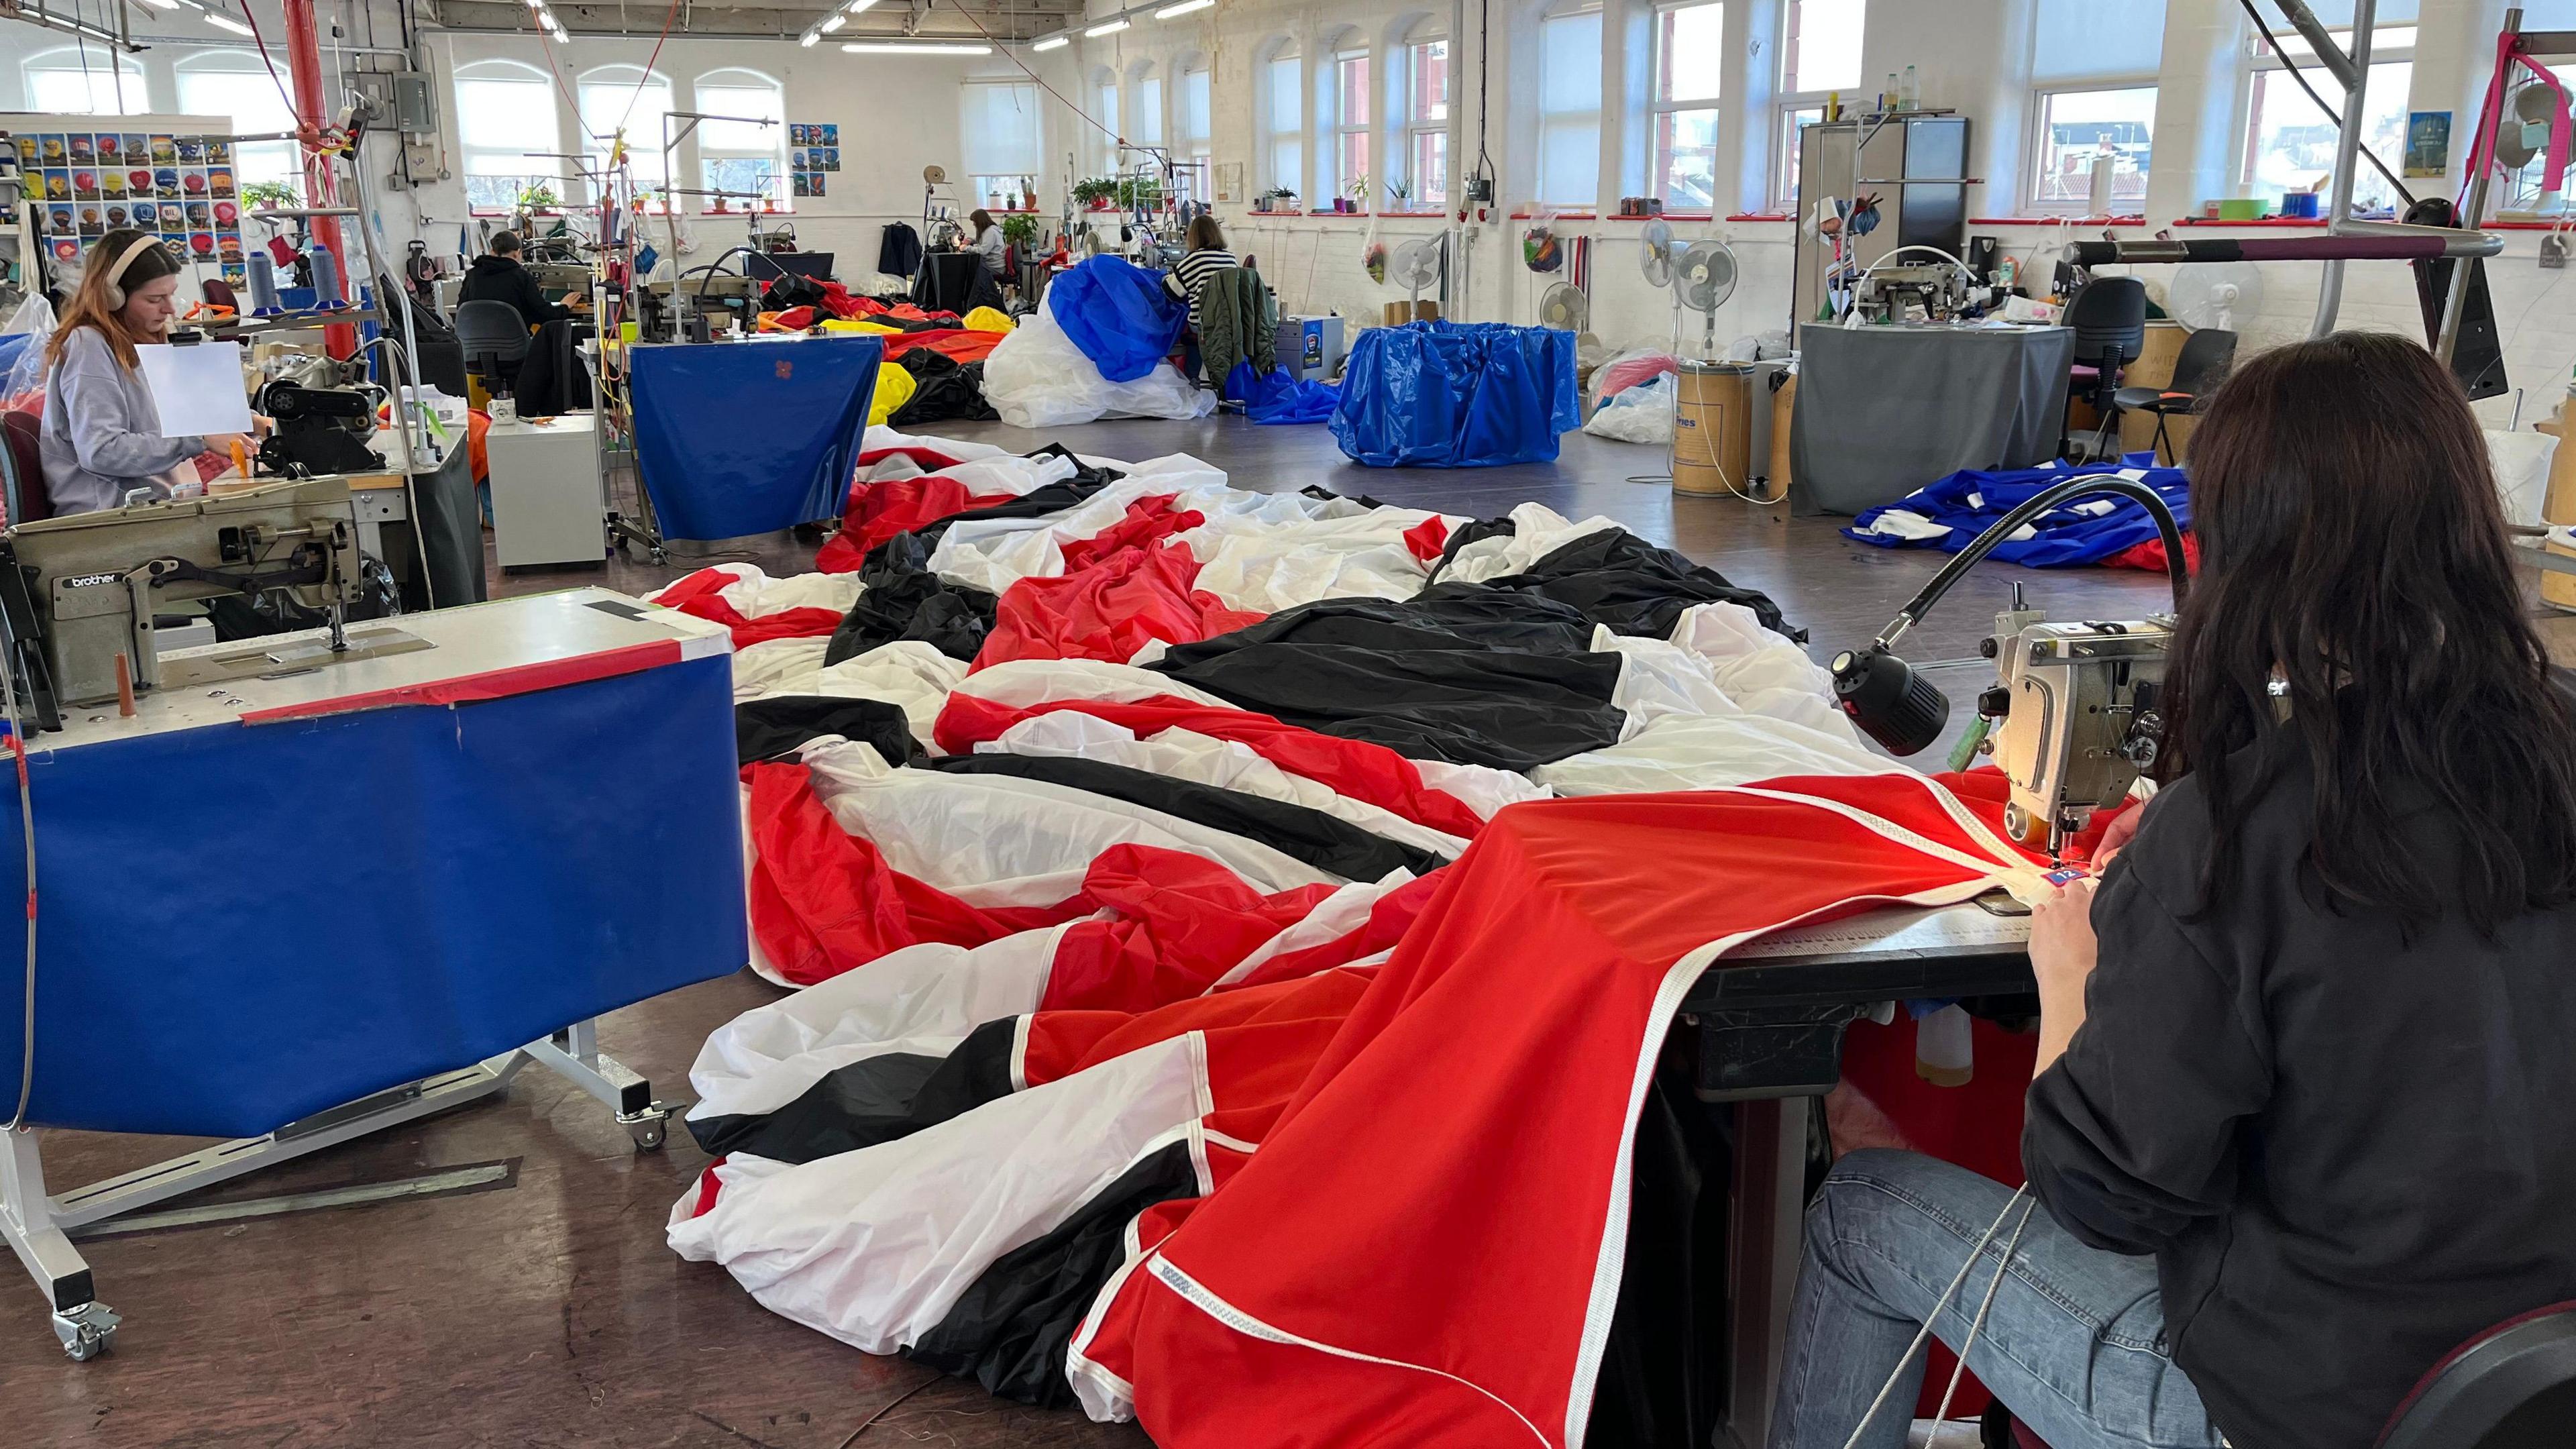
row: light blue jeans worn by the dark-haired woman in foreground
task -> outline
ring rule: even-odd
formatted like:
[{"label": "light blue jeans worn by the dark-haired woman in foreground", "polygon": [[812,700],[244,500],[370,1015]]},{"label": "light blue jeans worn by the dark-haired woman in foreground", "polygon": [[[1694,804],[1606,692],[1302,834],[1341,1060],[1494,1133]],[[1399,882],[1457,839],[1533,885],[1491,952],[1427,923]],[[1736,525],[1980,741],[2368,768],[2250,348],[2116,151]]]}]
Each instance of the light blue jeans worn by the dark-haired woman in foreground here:
[{"label": "light blue jeans worn by the dark-haired woman in foreground", "polygon": [[[1772,1449],[1842,1449],[2007,1199],[2012,1189],[1917,1152],[1834,1163],[1806,1212]],[[2156,1261],[2076,1243],[2035,1199],[2012,1207],[1960,1281],[1935,1323],[1940,1341],[1955,1351],[1968,1338],[2014,1222],[2012,1269],[1968,1369],[2050,1449],[2218,1449],[2200,1392],[2164,1343]],[[1917,1351],[1860,1449],[1904,1449],[1922,1382]]]}]

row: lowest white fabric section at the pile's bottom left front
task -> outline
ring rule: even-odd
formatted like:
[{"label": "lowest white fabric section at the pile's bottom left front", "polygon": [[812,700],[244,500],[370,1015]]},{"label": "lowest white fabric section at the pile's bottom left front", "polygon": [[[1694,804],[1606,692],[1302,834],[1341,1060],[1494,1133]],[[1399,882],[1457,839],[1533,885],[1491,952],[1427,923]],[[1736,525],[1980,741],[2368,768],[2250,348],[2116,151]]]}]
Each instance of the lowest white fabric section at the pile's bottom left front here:
[{"label": "lowest white fabric section at the pile's bottom left front", "polygon": [[711,1168],[706,1214],[688,1217],[696,1186],[672,1204],[670,1245],[724,1263],[770,1312],[894,1354],[994,1258],[1188,1140],[1208,1109],[1206,1044],[1190,1031],[876,1147],[801,1165],[737,1152]]}]

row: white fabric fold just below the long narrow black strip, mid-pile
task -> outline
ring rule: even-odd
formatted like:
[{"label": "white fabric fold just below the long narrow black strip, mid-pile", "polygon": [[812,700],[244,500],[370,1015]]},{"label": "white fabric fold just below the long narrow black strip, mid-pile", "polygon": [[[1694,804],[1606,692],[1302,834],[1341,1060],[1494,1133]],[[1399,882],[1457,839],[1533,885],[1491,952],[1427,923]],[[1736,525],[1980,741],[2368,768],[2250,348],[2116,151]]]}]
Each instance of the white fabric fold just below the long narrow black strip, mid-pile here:
[{"label": "white fabric fold just below the long narrow black strip, mid-pile", "polygon": [[814,794],[842,830],[873,843],[886,864],[966,905],[1054,905],[1110,846],[1159,846],[1216,861],[1257,892],[1342,884],[1296,856],[1128,804],[1036,779],[912,771],[837,735],[804,745]]}]

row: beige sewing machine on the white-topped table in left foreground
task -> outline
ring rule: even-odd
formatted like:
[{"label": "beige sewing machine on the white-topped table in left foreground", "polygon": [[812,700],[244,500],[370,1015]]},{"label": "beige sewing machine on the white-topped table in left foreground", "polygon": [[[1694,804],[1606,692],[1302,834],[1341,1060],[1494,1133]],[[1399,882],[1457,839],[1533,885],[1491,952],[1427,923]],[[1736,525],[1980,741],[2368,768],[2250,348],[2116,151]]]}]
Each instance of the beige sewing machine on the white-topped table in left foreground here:
[{"label": "beige sewing machine on the white-topped table in left foreground", "polygon": [[[348,629],[363,562],[348,480],[255,485],[222,498],[134,503],[0,534],[0,652],[28,730],[126,691],[180,688],[425,650],[392,624]],[[327,616],[325,639],[242,639],[162,655],[165,603],[289,590]]]}]

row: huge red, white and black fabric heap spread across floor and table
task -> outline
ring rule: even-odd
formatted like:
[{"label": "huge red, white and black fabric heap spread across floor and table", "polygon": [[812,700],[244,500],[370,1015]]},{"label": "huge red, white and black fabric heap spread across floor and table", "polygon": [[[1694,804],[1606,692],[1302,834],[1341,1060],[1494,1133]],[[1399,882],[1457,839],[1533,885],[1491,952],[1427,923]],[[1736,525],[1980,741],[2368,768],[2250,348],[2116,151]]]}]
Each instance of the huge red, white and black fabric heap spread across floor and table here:
[{"label": "huge red, white and black fabric heap spread across floor and table", "polygon": [[863,467],[819,572],[659,603],[734,632],[801,987],[706,1042],[670,1243],[866,1351],[1170,1446],[1579,1441],[1677,982],[2038,879],[1605,518]]}]

